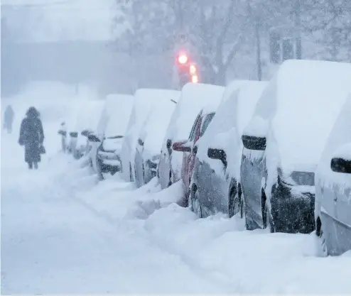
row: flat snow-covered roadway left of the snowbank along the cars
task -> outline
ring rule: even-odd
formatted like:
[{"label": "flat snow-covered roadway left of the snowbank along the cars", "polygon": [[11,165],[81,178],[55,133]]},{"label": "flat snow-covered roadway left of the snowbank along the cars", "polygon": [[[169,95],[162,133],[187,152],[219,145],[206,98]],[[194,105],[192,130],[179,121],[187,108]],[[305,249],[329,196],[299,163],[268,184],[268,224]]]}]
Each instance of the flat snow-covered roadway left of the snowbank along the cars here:
[{"label": "flat snow-covered roadway left of the snowbank along the cars", "polygon": [[32,172],[1,165],[1,294],[218,290],[138,229],[80,202],[60,183],[67,158],[55,158]]}]

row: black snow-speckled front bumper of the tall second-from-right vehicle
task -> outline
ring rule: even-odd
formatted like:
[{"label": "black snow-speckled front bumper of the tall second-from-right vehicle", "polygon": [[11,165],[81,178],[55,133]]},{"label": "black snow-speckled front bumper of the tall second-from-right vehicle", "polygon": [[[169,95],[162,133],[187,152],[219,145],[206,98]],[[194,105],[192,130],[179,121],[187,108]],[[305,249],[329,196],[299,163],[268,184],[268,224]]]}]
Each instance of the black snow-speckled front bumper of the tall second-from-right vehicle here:
[{"label": "black snow-speckled front bumper of the tall second-from-right vehicle", "polygon": [[315,194],[276,185],[271,194],[271,215],[277,232],[310,234],[315,229]]}]

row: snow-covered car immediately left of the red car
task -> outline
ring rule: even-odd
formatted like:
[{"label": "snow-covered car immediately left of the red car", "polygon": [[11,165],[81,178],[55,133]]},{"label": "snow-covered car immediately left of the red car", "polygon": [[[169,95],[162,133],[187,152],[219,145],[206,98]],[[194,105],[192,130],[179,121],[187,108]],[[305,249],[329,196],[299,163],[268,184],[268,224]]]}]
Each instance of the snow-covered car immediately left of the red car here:
[{"label": "snow-covered car immediately left of the red car", "polygon": [[163,137],[178,102],[180,92],[165,91],[164,99],[157,102],[141,127],[136,143],[135,176],[136,185],[141,187],[157,176]]}]

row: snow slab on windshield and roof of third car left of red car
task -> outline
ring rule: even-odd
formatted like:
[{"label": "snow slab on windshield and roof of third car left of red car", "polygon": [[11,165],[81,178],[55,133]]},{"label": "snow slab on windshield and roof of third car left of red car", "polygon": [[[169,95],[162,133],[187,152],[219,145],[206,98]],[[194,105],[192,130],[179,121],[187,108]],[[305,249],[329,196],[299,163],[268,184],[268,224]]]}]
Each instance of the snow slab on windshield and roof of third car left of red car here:
[{"label": "snow slab on windshield and roof of third car left of red car", "polygon": [[97,124],[97,133],[101,136],[124,136],[133,108],[134,97],[129,94],[109,94],[104,110]]}]

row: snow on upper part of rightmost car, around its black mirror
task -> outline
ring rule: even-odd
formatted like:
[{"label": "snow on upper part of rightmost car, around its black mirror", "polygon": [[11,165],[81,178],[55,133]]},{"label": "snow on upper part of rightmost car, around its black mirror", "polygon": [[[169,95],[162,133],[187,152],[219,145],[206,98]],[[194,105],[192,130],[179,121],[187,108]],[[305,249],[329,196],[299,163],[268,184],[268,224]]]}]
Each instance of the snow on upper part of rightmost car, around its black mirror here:
[{"label": "snow on upper part of rightmost car, around its black mirror", "polygon": [[342,106],[338,119],[326,141],[318,168],[315,172],[315,184],[327,182],[332,185],[351,186],[351,174],[333,172],[330,168],[332,158],[340,157],[351,160],[351,94]]}]

